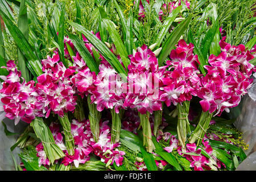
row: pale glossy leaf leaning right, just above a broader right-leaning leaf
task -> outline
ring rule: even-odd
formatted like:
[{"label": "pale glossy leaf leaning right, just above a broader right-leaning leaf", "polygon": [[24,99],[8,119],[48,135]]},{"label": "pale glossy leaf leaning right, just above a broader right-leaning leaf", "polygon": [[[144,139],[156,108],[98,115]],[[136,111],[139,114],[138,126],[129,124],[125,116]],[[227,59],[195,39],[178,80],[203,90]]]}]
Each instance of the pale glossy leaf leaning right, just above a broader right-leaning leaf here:
[{"label": "pale glossy leaf leaning right, just above a broader right-leaning leaf", "polygon": [[180,13],[180,10],[181,10],[181,6],[176,7],[176,9],[173,10],[172,13],[168,16],[168,18],[164,21],[163,27],[160,30],[155,41],[155,43],[157,43],[156,49],[159,48],[160,45],[162,44],[164,36],[166,36],[169,28],[171,27],[172,22],[174,22],[175,18]]}]

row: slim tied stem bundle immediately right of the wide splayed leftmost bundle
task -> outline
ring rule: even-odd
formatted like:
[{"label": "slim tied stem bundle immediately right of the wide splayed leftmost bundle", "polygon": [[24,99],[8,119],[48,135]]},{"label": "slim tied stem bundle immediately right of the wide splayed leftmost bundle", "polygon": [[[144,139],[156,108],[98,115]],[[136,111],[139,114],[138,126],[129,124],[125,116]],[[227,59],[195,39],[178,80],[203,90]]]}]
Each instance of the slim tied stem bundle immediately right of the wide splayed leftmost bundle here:
[{"label": "slim tied stem bundle immediately right of the wide splayed leftmost bundle", "polygon": [[69,155],[74,155],[75,141],[71,133],[71,123],[68,119],[68,113],[64,113],[63,118],[59,117],[60,124],[63,127],[64,136],[65,136],[65,144],[68,149]]}]

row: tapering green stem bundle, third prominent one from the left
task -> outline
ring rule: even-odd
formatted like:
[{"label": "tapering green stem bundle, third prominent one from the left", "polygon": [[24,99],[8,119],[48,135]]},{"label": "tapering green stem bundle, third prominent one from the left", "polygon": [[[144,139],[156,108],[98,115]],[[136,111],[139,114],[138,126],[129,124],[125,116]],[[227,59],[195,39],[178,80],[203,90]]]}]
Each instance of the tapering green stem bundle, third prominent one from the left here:
[{"label": "tapering green stem bundle, third prominent one from the left", "polygon": [[100,135],[100,119],[101,112],[97,110],[96,104],[91,104],[90,96],[87,97],[88,108],[89,108],[89,121],[90,121],[90,130],[93,134],[93,139],[95,142],[98,141],[98,136]]}]

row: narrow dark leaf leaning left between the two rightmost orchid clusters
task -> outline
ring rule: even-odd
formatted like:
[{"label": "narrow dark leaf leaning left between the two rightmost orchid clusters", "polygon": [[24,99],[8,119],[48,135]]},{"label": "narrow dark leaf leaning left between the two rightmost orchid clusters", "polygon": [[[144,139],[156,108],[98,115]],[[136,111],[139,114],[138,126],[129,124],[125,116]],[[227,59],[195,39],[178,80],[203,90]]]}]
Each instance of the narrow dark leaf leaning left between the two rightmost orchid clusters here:
[{"label": "narrow dark leaf leaning left between the two rightmost orchid clusters", "polygon": [[195,53],[195,55],[198,56],[198,60],[200,62],[199,69],[200,69],[201,73],[205,74],[204,65],[207,65],[207,63],[205,62],[204,56],[202,55],[199,47],[197,46],[195,39],[193,38],[191,30],[189,30],[189,32],[188,32],[188,42],[190,42],[194,45],[193,52]]}]

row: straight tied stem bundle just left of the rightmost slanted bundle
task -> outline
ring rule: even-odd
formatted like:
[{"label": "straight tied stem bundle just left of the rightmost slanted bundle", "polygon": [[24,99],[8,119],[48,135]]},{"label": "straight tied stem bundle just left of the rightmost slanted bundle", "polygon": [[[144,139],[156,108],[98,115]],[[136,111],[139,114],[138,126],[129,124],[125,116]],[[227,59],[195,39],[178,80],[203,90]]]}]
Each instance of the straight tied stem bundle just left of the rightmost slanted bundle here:
[{"label": "straight tied stem bundle just left of the rightmost slanted bundle", "polygon": [[182,148],[185,148],[185,142],[187,140],[187,133],[191,133],[188,121],[190,101],[184,101],[181,104],[177,104],[177,135]]}]

